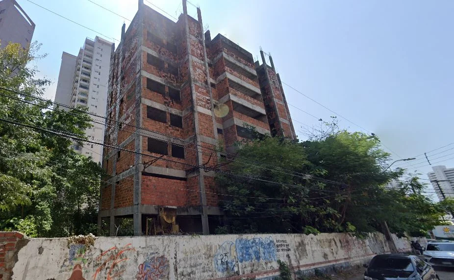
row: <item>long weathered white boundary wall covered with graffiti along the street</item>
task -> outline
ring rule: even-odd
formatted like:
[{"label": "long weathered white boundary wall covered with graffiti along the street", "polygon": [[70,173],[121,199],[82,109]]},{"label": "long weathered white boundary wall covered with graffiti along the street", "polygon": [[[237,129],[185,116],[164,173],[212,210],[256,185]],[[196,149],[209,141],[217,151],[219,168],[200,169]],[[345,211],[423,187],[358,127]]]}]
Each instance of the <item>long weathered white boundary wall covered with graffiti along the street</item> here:
[{"label": "long weathered white boundary wall covered with graffiti along the street", "polygon": [[[0,239],[0,280],[269,280],[279,275],[278,259],[307,274],[390,252],[381,233],[363,239],[347,233],[98,237],[90,247],[6,234],[15,241]],[[406,238],[393,237],[400,252],[411,250]]]}]

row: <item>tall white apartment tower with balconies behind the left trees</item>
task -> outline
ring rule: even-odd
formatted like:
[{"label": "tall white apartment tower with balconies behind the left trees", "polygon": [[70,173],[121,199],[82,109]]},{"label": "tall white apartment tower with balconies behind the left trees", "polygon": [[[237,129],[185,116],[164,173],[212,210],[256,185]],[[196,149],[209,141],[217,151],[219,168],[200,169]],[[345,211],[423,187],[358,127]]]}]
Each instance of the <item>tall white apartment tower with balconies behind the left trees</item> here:
[{"label": "tall white apartment tower with balconies behind the left trees", "polygon": [[[55,102],[71,107],[88,107],[88,111],[105,116],[107,104],[107,83],[109,80],[110,53],[113,43],[98,36],[85,39],[77,56],[63,52],[58,76]],[[93,128],[87,129],[86,135],[92,141],[103,142],[105,119],[93,117],[97,122]],[[83,147],[73,145],[73,148],[101,162],[102,146],[85,143]]]}]

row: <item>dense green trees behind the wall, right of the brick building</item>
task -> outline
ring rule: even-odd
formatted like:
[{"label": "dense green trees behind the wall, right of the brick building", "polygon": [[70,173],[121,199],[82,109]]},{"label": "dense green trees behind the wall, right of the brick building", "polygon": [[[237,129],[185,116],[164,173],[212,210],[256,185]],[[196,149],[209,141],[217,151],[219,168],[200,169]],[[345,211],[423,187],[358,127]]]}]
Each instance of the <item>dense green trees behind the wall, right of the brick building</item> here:
[{"label": "dense green trees behind the wall, right of the brick building", "polygon": [[[266,135],[238,144],[231,173],[217,176],[228,194],[223,232],[368,233],[386,220],[392,232],[418,236],[452,209],[452,200],[424,196],[417,177],[386,170],[390,155],[376,136],[339,130],[335,118],[308,133],[303,142]],[[387,189],[391,179],[402,187]]]}]

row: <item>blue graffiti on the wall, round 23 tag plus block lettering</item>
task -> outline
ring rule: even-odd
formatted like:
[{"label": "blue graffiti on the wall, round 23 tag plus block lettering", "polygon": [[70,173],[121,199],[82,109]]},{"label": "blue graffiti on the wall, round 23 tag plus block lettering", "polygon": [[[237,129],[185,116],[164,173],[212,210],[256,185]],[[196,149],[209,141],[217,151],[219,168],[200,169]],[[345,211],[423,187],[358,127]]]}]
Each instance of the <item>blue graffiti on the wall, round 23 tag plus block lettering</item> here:
[{"label": "blue graffiti on the wall, round 23 tag plus block lettering", "polygon": [[224,242],[216,251],[214,264],[218,271],[237,271],[237,263],[276,261],[276,243],[271,237],[237,238]]}]

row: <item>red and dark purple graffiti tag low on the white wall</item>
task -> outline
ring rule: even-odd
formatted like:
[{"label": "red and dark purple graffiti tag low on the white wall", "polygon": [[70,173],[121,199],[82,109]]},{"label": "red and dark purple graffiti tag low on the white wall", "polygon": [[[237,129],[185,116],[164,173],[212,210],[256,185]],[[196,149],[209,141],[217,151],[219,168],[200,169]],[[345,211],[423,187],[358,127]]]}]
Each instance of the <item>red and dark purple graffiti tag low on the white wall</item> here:
[{"label": "red and dark purple graffiti tag low on the white wall", "polygon": [[168,279],[169,260],[165,256],[151,257],[139,264],[137,280]]}]

